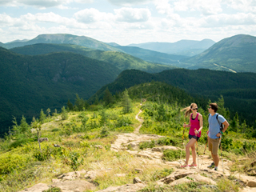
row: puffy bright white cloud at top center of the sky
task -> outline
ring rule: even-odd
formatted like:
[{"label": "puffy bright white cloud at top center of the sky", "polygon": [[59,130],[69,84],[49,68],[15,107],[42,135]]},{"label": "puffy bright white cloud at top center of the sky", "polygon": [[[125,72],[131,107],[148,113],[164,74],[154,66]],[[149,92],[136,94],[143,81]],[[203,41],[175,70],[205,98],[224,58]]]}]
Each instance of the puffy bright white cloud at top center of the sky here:
[{"label": "puffy bright white cloud at top center of the sky", "polygon": [[123,7],[114,10],[118,22],[146,22],[149,20],[151,13],[148,9],[136,9]]}]

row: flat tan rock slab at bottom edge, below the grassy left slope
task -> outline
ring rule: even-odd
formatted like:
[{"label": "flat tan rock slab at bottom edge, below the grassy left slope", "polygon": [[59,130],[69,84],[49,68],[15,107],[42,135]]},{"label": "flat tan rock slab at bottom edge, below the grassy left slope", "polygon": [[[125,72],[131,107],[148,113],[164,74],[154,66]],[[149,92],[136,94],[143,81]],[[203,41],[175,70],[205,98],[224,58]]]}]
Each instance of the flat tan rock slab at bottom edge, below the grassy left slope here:
[{"label": "flat tan rock slab at bottom edge, below the grassy left slope", "polygon": [[83,192],[95,189],[95,186],[86,180],[55,182],[52,186],[59,187],[62,192]]}]

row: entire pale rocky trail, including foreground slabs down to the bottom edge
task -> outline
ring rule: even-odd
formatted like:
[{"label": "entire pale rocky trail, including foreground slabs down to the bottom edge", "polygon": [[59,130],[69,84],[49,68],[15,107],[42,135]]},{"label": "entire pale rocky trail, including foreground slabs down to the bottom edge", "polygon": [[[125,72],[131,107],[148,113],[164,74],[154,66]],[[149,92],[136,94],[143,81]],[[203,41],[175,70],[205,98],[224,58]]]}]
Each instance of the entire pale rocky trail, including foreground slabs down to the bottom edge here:
[{"label": "entire pale rocky trail, including foreground slabs down to the bottom edge", "polygon": [[[152,149],[140,150],[139,143],[140,142],[150,142],[151,140],[157,140],[162,136],[155,134],[139,134],[139,129],[142,126],[143,120],[139,118],[139,114],[142,113],[142,110],[138,112],[136,115],[136,119],[138,119],[140,125],[134,130],[134,133],[130,134],[118,134],[116,141],[111,145],[111,150],[116,152],[118,151],[126,151],[130,154],[133,154],[140,158],[141,162],[146,163],[147,165],[159,166],[165,165],[170,166],[170,168],[174,169],[174,172],[165,178],[161,178],[158,180],[158,186],[169,185],[174,186],[187,182],[204,182],[206,185],[204,187],[209,189],[217,189],[217,178],[223,178],[230,176],[230,162],[229,160],[223,158],[223,167],[222,170],[222,161],[220,160],[220,164],[218,166],[218,171],[210,170],[207,168],[212,162],[212,159],[209,155],[199,155],[199,165],[195,167],[186,167],[181,168],[181,165],[185,162],[185,159],[180,159],[174,162],[166,162],[162,160],[163,150],[180,150],[180,148],[175,146],[159,146],[154,147]],[[184,149],[182,149],[184,150]],[[192,158],[190,156],[190,162],[192,162]],[[22,190],[20,192],[25,191],[38,191],[41,192],[43,190],[47,190],[50,187],[59,187],[62,192],[82,192],[85,190],[94,190],[96,187],[94,186],[94,179],[97,177],[99,172],[108,171],[108,170],[81,170],[70,172],[67,174],[62,174],[58,176],[58,178],[53,179],[50,185],[44,183],[38,183],[37,185],[30,187],[29,189]],[[138,170],[142,171],[143,170]],[[81,176],[82,175],[82,176]],[[122,176],[122,175],[118,175]],[[253,192],[256,191],[256,178],[246,176],[243,174],[232,174],[235,178],[238,179],[239,182],[242,182],[245,186],[242,189],[242,192]],[[146,183],[142,182],[140,178],[134,178],[134,184],[126,184],[123,186],[109,186],[105,190],[98,190],[98,192],[112,192],[112,191],[122,191],[122,192],[135,192],[146,187]]]}]

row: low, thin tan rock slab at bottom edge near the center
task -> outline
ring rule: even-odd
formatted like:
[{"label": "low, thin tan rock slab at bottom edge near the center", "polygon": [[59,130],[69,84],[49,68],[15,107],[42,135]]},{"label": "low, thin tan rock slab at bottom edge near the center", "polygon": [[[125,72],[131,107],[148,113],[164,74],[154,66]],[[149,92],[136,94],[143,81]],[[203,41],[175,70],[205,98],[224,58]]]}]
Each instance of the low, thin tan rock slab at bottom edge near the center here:
[{"label": "low, thin tan rock slab at bottom edge near the center", "polygon": [[98,190],[97,192],[136,192],[138,190],[142,190],[144,187],[146,187],[143,183],[136,183],[136,184],[126,184],[123,186],[110,186],[106,188],[105,190]]}]

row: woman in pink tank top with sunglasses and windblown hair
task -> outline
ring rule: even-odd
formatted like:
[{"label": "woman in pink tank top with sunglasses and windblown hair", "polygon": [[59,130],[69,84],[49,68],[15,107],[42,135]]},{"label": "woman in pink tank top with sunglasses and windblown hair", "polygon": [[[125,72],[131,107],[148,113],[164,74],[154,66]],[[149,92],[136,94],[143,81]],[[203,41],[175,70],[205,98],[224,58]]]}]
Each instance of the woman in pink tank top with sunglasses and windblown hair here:
[{"label": "woman in pink tank top with sunglasses and windblown hair", "polygon": [[[186,125],[183,124],[183,127],[190,127],[189,138],[190,142],[186,144],[186,162],[182,167],[186,166],[197,166],[197,154],[195,151],[194,143],[198,141],[201,137],[201,130],[202,130],[202,114],[198,113],[198,105],[196,103],[191,103],[190,106],[184,108],[186,110],[185,117],[190,114],[190,123]],[[182,110],[182,111],[183,111]],[[193,162],[189,165],[190,160],[190,148],[192,150],[192,158]]]}]

